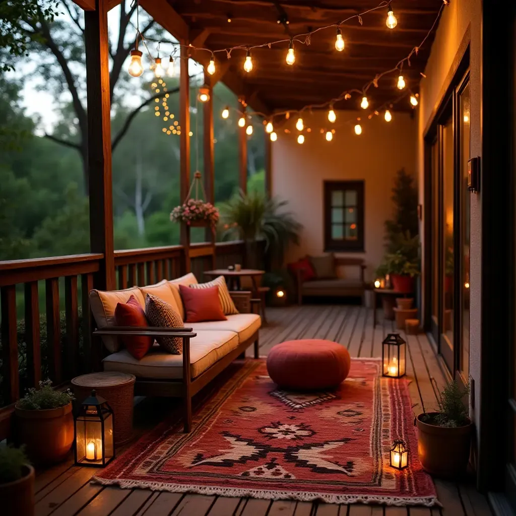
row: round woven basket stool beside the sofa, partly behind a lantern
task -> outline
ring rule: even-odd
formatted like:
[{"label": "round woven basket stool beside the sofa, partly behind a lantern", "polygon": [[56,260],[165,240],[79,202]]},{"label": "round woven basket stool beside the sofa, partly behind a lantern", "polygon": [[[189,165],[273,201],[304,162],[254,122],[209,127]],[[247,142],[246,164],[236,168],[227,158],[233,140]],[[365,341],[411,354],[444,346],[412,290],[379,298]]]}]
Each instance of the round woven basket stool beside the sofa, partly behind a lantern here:
[{"label": "round woven basket stool beside the sofa, partly behind a lantern", "polygon": [[133,398],[136,377],[105,371],[77,376],[72,380],[73,393],[80,402],[94,389],[111,407],[115,417],[115,444],[122,444],[133,434]]}]

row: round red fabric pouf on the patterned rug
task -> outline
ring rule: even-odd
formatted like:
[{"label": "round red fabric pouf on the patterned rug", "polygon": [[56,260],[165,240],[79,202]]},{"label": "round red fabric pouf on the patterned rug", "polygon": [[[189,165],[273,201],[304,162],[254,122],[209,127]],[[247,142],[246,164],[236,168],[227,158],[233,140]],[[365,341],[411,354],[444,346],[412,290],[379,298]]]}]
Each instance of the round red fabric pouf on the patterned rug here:
[{"label": "round red fabric pouf on the patterned rug", "polygon": [[320,339],[282,342],[267,355],[271,380],[283,389],[313,391],[342,383],[351,359],[341,344]]}]

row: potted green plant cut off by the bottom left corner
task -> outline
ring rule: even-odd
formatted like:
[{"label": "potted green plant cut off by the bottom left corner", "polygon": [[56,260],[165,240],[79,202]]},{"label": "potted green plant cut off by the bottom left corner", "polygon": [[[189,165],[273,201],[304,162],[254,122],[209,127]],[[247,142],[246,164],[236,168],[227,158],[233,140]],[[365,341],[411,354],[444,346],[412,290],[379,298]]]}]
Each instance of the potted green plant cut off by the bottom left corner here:
[{"label": "potted green plant cut off by the bottom left corner", "polygon": [[34,467],[23,449],[0,446],[0,500],[4,516],[34,516]]}]

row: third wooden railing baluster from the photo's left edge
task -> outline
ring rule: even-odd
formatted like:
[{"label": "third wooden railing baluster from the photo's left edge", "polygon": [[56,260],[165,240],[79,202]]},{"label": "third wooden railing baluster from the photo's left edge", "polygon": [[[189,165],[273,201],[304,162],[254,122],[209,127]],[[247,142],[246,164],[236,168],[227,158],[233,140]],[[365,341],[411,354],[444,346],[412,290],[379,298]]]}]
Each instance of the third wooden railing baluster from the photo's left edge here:
[{"label": "third wooden railing baluster from the photo's left edge", "polygon": [[45,283],[46,341],[49,353],[50,377],[61,383],[61,323],[59,320],[59,279],[50,278]]}]

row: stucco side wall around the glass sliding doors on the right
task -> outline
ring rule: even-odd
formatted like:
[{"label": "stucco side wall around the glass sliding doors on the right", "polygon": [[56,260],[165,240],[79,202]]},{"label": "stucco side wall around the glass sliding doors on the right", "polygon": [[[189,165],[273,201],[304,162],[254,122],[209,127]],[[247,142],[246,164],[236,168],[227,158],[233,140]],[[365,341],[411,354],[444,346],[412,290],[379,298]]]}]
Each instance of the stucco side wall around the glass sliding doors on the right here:
[{"label": "stucco side wall around the glass sliding doors on the right", "polygon": [[[481,155],[480,140],[480,70],[481,70],[481,1],[454,0],[444,9],[436,39],[421,81],[421,102],[418,128],[418,172],[420,195],[423,199],[423,135],[432,117],[432,111],[441,101],[446,76],[453,66],[467,30],[470,31],[470,94],[471,94],[471,156]],[[423,202],[423,201],[421,201]],[[481,196],[471,196],[471,244],[470,244],[470,375],[475,381],[475,409],[471,415],[478,421],[480,399],[480,239]]]}]

